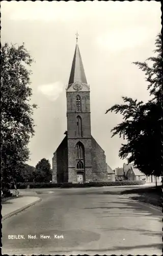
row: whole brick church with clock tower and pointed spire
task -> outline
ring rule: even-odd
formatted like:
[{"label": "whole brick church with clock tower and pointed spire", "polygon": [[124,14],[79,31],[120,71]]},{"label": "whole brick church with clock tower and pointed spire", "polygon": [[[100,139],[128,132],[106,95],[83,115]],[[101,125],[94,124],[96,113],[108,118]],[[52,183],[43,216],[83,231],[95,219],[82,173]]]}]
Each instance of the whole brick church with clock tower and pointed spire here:
[{"label": "whole brick church with clock tower and pointed spire", "polygon": [[104,151],[91,135],[90,87],[77,38],[66,98],[67,131],[53,153],[52,182],[107,181]]}]

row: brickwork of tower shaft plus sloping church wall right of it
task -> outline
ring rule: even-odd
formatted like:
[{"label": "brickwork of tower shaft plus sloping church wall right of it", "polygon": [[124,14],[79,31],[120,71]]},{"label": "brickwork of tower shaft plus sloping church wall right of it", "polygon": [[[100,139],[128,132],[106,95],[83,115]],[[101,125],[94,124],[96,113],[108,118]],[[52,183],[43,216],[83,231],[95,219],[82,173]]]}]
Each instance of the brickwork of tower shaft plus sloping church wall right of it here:
[{"label": "brickwork of tower shaft plus sloping church wall right of it", "polygon": [[[81,108],[77,110],[76,96],[79,95]],[[68,138],[68,181],[77,182],[76,152],[78,141],[85,148],[85,181],[106,181],[107,165],[102,148],[91,136],[90,92],[66,92],[67,97],[67,138]],[[77,133],[77,116],[82,118],[82,136]],[[93,166],[93,167],[92,167]]]}]

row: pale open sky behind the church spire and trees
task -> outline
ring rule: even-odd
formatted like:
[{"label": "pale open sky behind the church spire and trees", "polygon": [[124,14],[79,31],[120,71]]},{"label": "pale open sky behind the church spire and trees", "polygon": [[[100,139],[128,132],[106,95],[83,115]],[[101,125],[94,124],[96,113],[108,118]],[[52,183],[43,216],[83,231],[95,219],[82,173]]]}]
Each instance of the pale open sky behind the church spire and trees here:
[{"label": "pale open sky behind the church spire and trees", "polygon": [[111,168],[126,160],[118,153],[123,139],[111,138],[122,116],[107,113],[122,103],[122,96],[147,101],[145,74],[132,64],[153,55],[161,30],[160,3],[156,1],[3,1],[1,43],[21,45],[35,59],[31,69],[35,136],[31,139],[30,165],[49,159],[67,130],[66,87],[78,32],[87,81],[90,85],[92,136],[103,148]]}]

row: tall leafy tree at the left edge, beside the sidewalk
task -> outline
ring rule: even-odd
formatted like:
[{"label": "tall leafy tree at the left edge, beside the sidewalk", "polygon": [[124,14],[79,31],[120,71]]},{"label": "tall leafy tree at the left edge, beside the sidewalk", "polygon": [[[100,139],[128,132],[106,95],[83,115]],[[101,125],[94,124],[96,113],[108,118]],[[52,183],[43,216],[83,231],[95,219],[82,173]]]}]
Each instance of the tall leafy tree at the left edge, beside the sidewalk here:
[{"label": "tall leafy tree at the left edge, beside the sidewalk", "polygon": [[21,46],[5,44],[1,49],[1,157],[2,185],[11,182],[29,160],[28,143],[34,135],[33,110],[30,104],[32,89],[30,76],[33,59]]}]

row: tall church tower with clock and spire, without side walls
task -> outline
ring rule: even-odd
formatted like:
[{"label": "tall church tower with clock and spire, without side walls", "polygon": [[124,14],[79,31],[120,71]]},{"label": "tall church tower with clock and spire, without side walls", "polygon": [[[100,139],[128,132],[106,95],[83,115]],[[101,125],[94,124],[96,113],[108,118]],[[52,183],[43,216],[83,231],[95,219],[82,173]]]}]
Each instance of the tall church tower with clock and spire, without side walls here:
[{"label": "tall church tower with clock and spire, without side walls", "polygon": [[86,182],[92,175],[90,88],[77,44],[66,97],[68,182]]}]

